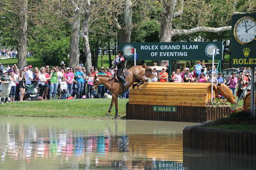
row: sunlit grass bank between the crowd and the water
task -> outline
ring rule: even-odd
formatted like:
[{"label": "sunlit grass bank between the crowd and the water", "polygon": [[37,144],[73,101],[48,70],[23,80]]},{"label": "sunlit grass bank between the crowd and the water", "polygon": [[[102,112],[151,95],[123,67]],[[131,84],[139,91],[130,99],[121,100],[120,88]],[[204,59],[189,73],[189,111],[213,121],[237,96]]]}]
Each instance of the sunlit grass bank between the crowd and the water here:
[{"label": "sunlit grass bank between the crowd and the water", "polygon": [[[110,102],[105,98],[13,102],[0,105],[0,116],[112,118],[105,116]],[[125,116],[127,102],[118,99],[119,116]],[[111,115],[115,115],[115,105]]]}]

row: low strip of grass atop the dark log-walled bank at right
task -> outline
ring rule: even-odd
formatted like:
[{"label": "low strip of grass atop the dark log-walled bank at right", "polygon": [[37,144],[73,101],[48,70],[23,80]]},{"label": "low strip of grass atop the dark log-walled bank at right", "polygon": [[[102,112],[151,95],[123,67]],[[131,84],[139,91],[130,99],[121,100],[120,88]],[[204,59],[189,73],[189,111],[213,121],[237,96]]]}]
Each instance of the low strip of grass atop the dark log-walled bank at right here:
[{"label": "low strip of grass atop the dark log-walled bank at right", "polygon": [[256,124],[222,124],[218,126],[206,126],[207,128],[256,131]]}]

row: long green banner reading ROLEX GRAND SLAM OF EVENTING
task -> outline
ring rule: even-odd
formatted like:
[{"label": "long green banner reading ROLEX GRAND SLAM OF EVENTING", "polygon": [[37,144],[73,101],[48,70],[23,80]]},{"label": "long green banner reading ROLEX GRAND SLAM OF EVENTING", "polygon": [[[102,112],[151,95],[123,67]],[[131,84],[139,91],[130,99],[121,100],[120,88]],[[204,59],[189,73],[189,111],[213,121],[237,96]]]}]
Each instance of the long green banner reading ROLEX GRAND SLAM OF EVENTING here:
[{"label": "long green banner reading ROLEX GRAND SLAM OF EVENTING", "polygon": [[146,42],[120,43],[119,50],[127,60],[211,60],[216,49],[215,59],[222,60],[222,41],[214,42]]}]

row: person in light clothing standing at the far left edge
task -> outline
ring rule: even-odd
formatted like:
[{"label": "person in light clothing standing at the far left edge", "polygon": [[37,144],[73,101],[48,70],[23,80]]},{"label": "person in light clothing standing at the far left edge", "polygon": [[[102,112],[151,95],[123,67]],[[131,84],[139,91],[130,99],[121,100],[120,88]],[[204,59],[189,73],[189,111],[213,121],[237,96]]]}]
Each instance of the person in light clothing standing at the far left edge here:
[{"label": "person in light clothing standing at the far left edge", "polygon": [[2,85],[2,91],[0,92],[1,102],[0,104],[8,103],[8,98],[11,92],[11,82],[7,71],[3,71],[3,75],[0,77],[0,83]]}]

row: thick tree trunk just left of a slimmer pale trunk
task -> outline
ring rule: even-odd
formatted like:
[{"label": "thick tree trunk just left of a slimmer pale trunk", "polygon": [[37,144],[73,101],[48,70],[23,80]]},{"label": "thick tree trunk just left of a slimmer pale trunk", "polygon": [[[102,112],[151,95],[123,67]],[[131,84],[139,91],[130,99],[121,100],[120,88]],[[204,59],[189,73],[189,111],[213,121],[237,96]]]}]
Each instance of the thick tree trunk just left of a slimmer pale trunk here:
[{"label": "thick tree trunk just left of a slimmer pale trunk", "polygon": [[72,17],[71,39],[70,39],[70,50],[69,50],[69,66],[73,68],[76,68],[79,65],[80,22],[81,22],[81,14],[79,10],[77,10],[75,11]]}]

